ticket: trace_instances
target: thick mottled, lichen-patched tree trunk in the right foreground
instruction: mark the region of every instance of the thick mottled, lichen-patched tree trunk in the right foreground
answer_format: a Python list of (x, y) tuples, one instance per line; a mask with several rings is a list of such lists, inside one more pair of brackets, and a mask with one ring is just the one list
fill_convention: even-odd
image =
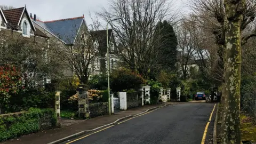
[(246, 0), (225, 0), (226, 55), (222, 87), (221, 143), (241, 143), (240, 85), (241, 85), (241, 22)]

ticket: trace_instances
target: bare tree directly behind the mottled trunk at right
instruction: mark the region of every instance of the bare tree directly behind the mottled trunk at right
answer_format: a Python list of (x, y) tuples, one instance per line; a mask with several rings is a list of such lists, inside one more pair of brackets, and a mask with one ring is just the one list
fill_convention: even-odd
[[(225, 57), (225, 7), (223, 0), (190, 0), (189, 6), (194, 14), (200, 18), (196, 25), (202, 29), (209, 30), (214, 35), (215, 42), (218, 44), (219, 61), (215, 68), (218, 76), (217, 80), (223, 82), (223, 69)], [(254, 25), (254, 18), (256, 16), (256, 3), (253, 0), (246, 0), (246, 9), (242, 12), (243, 20), (241, 23), (241, 31), (246, 31), (247, 26)], [(248, 34), (242, 33), (242, 45), (248, 39), (256, 36), (255, 27)]]

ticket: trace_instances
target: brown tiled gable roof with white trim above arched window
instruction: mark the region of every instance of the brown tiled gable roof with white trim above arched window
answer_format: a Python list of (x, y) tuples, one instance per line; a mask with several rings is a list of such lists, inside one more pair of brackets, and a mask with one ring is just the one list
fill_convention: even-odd
[[(21, 18), (23, 14), (26, 12), (28, 16), (28, 12), (26, 7), (20, 7), (18, 9), (11, 9), (11, 10), (5, 10), (3, 11), (5, 18), (9, 25), (11, 24), (14, 27), (18, 27), (20, 25)], [(31, 27), (35, 31), (35, 27), (33, 25), (33, 22), (28, 18), (28, 21), (30, 22)]]

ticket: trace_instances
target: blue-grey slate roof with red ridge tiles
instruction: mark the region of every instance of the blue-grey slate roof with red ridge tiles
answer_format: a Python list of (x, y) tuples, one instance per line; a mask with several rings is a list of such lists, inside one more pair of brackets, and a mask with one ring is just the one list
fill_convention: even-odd
[(36, 20), (35, 22), (65, 44), (73, 44), (79, 28), (85, 21), (84, 17), (76, 17), (44, 22)]

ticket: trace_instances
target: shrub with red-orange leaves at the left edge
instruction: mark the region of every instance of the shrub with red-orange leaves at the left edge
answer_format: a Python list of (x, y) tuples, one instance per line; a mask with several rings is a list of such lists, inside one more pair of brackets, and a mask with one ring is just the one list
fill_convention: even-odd
[(25, 89), (21, 82), (20, 71), (14, 66), (0, 66), (0, 100), (2, 104), (9, 102), (11, 94), (16, 94)]

